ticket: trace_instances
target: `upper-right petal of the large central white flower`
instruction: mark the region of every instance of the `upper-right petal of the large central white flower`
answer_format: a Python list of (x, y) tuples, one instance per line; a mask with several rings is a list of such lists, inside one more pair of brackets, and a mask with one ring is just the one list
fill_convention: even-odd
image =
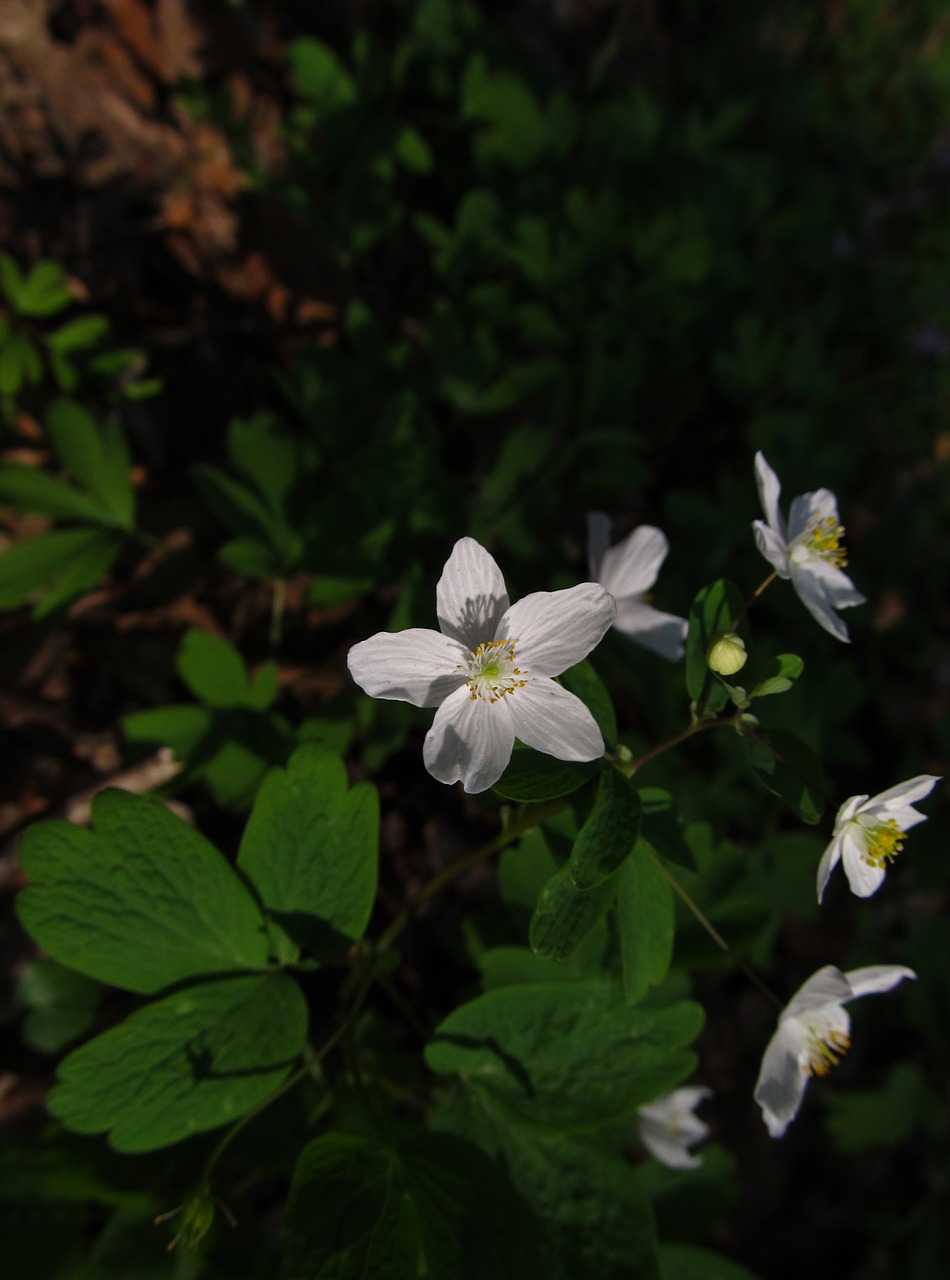
[(531, 678), (560, 676), (603, 640), (616, 612), (613, 596), (597, 582), (535, 591), (511, 605), (494, 637), (516, 643), (519, 667)]

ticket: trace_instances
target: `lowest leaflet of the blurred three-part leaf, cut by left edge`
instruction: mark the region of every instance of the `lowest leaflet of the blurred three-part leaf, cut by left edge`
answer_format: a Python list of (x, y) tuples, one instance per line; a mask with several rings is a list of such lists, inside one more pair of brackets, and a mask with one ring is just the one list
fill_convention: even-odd
[(37, 614), (50, 612), (44, 595), (58, 588), (61, 603), (99, 582), (118, 553), (120, 535), (102, 529), (55, 529), (14, 543), (0, 553), (0, 609), (38, 599)]

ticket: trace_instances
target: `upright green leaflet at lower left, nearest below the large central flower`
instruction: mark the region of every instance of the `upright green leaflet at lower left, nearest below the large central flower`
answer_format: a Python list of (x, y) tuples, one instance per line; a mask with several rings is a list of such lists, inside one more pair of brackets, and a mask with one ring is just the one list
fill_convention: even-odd
[(280, 960), (301, 947), (320, 959), (362, 936), (376, 895), (379, 799), (347, 787), (338, 755), (298, 748), (257, 792), (238, 854), (271, 923)]

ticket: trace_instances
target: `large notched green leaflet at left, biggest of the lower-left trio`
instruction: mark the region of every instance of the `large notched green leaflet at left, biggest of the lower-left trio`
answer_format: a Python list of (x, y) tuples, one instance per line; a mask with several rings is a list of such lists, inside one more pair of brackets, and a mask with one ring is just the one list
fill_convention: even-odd
[(266, 965), (260, 909), (204, 836), (125, 791), (96, 796), (92, 819), (35, 823), (20, 846), (17, 911), (55, 960), (142, 993)]

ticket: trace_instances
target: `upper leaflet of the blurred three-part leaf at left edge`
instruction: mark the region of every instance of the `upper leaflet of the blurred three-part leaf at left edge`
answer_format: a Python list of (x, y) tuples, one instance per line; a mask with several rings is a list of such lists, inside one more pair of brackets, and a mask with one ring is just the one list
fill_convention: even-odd
[(58, 399), (46, 413), (46, 429), (69, 475), (99, 499), (117, 525), (132, 529), (132, 460), (119, 424), (100, 424), (76, 401)]

